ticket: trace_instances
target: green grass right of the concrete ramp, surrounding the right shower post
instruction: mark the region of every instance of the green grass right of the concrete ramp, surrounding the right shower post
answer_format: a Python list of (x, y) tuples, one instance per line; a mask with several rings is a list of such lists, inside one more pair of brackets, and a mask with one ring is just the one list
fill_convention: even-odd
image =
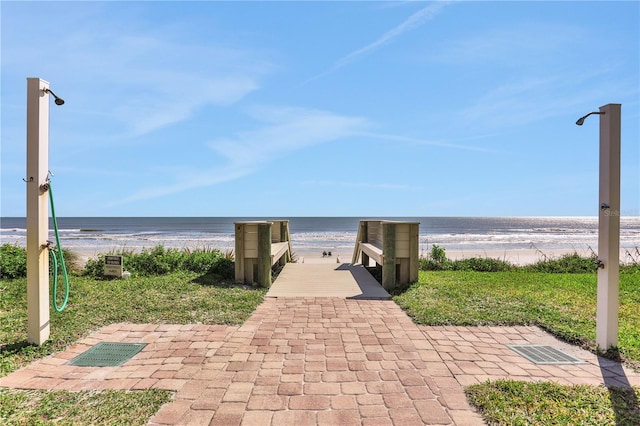
[[(419, 282), (394, 300), (418, 324), (537, 325), (596, 351), (596, 294), (594, 274), (421, 271)], [(639, 305), (637, 276), (621, 274), (618, 350), (636, 368)]]

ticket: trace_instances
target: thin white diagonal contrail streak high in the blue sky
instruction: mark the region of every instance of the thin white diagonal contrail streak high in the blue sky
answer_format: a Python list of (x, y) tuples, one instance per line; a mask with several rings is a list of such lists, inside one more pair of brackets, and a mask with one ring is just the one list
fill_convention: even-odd
[(302, 84), (309, 83), (310, 81), (317, 80), (321, 77), (324, 77), (325, 75), (331, 74), (339, 70), (340, 68), (344, 67), (345, 65), (353, 62), (360, 56), (363, 56), (367, 53), (371, 53), (376, 49), (379, 49), (380, 47), (389, 43), (396, 37), (399, 37), (400, 35), (404, 34), (405, 32), (411, 31), (414, 28), (421, 26), (425, 22), (431, 20), (442, 8), (444, 8), (449, 3), (451, 3), (451, 1), (437, 1), (423, 9), (420, 9), (419, 11), (411, 15), (403, 23), (393, 28), (392, 30), (389, 30), (386, 33), (384, 33), (381, 37), (379, 37), (373, 43), (370, 43), (364, 47), (361, 47), (360, 49), (354, 50), (348, 55), (340, 58), (330, 69), (314, 77), (311, 77), (310, 79), (304, 81), (304, 83)]

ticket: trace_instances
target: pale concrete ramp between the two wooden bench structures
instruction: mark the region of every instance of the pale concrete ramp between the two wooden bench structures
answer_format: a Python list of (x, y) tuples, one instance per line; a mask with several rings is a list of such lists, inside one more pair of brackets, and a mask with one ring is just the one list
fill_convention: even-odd
[(266, 297), (391, 299), (364, 266), (351, 263), (287, 263)]

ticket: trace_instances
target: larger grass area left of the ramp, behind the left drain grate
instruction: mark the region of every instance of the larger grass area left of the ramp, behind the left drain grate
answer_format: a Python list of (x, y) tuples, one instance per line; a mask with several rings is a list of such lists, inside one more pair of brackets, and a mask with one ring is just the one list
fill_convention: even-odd
[(70, 281), (67, 308), (51, 310), (51, 337), (41, 346), (26, 341), (26, 279), (0, 281), (0, 377), (112, 323), (239, 325), (266, 293), (195, 272), (125, 280), (72, 276)]

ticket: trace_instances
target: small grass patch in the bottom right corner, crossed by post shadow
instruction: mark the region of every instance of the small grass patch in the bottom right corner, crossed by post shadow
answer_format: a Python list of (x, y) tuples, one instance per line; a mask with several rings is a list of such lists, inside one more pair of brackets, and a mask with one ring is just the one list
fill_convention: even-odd
[(490, 425), (640, 424), (640, 388), (499, 380), (465, 393)]

